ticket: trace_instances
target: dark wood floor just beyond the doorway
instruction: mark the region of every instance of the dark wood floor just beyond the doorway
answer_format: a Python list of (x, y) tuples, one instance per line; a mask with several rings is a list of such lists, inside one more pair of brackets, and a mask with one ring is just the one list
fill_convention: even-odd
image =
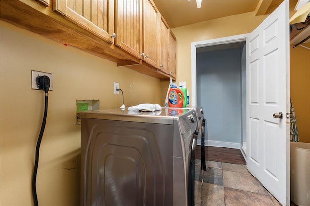
[[(196, 159), (201, 159), (201, 146), (197, 145)], [(240, 149), (205, 146), (205, 159), (231, 164), (246, 164)]]

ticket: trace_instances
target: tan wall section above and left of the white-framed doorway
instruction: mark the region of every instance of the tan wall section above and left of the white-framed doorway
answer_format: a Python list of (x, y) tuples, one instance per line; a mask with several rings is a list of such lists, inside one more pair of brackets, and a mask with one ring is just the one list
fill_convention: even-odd
[(186, 87), (192, 94), (192, 42), (249, 33), (266, 17), (267, 15), (255, 16), (254, 12), (249, 12), (172, 29), (177, 38), (177, 81), (186, 81)]

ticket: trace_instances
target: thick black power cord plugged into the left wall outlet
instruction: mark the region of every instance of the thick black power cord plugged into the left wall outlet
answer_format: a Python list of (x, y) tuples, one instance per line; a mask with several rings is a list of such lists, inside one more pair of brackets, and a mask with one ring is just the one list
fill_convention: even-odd
[(38, 204), (38, 196), (37, 196), (37, 190), (36, 190), (36, 179), (37, 179), (37, 172), (38, 172), (38, 164), (39, 164), (39, 151), (40, 151), (40, 145), (44, 133), (45, 124), (47, 121), (47, 108), (48, 108), (48, 88), (50, 84), (50, 79), (48, 76), (38, 76), (36, 78), (37, 85), (39, 89), (44, 90), (45, 92), (45, 104), (44, 104), (44, 115), (41, 125), (41, 130), (39, 134), (39, 138), (37, 141), (37, 147), (35, 149), (35, 162), (34, 162), (34, 169), (33, 169), (33, 176), (32, 176), (32, 196), (35, 206), (39, 206)]

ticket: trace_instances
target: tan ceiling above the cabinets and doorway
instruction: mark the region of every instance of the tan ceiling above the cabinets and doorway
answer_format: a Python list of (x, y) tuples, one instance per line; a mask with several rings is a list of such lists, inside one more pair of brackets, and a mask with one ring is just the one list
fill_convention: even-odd
[[(283, 0), (203, 0), (200, 9), (197, 8), (196, 0), (153, 1), (169, 27), (175, 28), (225, 16), (253, 12), (260, 8), (260, 5), (266, 5), (266, 2), (268, 2), (267, 8), (263, 14), (269, 14)], [(297, 0), (291, 1), (297, 2)]]

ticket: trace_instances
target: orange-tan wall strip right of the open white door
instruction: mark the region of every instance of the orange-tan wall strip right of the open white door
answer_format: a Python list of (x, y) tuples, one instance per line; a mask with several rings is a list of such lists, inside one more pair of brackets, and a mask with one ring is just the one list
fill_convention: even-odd
[(290, 93), (299, 141), (310, 143), (310, 50), (300, 46), (290, 48)]

